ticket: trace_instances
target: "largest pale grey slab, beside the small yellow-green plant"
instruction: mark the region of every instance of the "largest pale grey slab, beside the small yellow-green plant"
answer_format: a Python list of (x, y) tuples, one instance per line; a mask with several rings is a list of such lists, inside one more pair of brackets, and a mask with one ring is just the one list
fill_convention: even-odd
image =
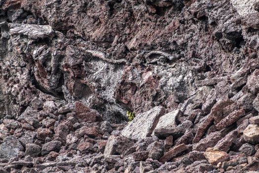
[(150, 136), (164, 112), (165, 109), (162, 106), (156, 106), (145, 113), (138, 114), (121, 131), (121, 134), (131, 139), (144, 139)]

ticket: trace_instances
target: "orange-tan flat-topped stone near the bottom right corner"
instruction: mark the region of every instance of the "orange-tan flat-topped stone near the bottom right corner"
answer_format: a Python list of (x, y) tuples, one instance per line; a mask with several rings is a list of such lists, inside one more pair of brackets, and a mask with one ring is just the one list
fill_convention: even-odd
[(217, 165), (220, 162), (226, 162), (230, 160), (229, 155), (223, 151), (208, 151), (204, 153), (208, 162), (212, 165)]

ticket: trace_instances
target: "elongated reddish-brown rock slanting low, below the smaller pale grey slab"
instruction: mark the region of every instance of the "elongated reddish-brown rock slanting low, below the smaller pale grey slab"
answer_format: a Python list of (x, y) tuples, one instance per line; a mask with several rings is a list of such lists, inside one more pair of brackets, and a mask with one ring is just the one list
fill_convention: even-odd
[(187, 146), (185, 144), (178, 145), (171, 149), (170, 151), (166, 152), (160, 159), (159, 162), (166, 162), (170, 161), (172, 158), (176, 157), (177, 155), (183, 153), (187, 150)]

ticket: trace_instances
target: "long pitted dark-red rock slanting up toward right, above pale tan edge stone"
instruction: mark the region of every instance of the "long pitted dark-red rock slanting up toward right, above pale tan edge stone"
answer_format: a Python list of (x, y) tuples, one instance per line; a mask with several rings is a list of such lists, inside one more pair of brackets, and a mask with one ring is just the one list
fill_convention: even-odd
[(216, 124), (216, 127), (218, 130), (222, 130), (223, 128), (226, 128), (227, 126), (235, 123), (243, 115), (245, 115), (244, 109), (236, 110), (222, 119), (218, 124)]

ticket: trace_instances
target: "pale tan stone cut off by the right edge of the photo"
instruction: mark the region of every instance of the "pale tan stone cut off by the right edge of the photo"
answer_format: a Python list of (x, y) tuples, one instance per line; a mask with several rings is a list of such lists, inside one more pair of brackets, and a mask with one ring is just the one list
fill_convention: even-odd
[(243, 132), (244, 139), (250, 143), (259, 143), (259, 125), (248, 125)]

